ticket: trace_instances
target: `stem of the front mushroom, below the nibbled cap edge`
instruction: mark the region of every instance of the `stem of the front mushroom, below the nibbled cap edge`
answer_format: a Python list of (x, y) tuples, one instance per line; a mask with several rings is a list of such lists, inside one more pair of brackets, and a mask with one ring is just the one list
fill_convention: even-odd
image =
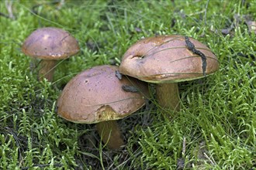
[(112, 149), (118, 149), (123, 144), (123, 136), (116, 121), (101, 121), (96, 124), (102, 141)]

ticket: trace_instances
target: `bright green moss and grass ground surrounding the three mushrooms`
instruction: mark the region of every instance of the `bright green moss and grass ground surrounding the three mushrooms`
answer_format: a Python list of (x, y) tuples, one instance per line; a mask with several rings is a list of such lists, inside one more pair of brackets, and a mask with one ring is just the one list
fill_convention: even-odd
[[(1, 1), (1, 169), (254, 169), (256, 166), (256, 1)], [(54, 26), (81, 53), (57, 64), (52, 83), (21, 53), (33, 30)], [(92, 66), (119, 65), (138, 39), (178, 34), (209, 46), (212, 76), (180, 83), (181, 110), (162, 118), (152, 97), (118, 121), (126, 146), (110, 151), (94, 124), (57, 116), (68, 80)]]

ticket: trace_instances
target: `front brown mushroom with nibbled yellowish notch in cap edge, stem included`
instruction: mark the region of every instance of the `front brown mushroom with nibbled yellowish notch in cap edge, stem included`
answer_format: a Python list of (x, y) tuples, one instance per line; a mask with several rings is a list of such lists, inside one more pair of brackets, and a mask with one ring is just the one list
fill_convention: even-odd
[(74, 123), (96, 124), (102, 141), (112, 149), (124, 144), (115, 120), (143, 107), (148, 95), (147, 83), (117, 76), (116, 71), (117, 66), (103, 65), (79, 73), (67, 83), (57, 101), (59, 116)]

